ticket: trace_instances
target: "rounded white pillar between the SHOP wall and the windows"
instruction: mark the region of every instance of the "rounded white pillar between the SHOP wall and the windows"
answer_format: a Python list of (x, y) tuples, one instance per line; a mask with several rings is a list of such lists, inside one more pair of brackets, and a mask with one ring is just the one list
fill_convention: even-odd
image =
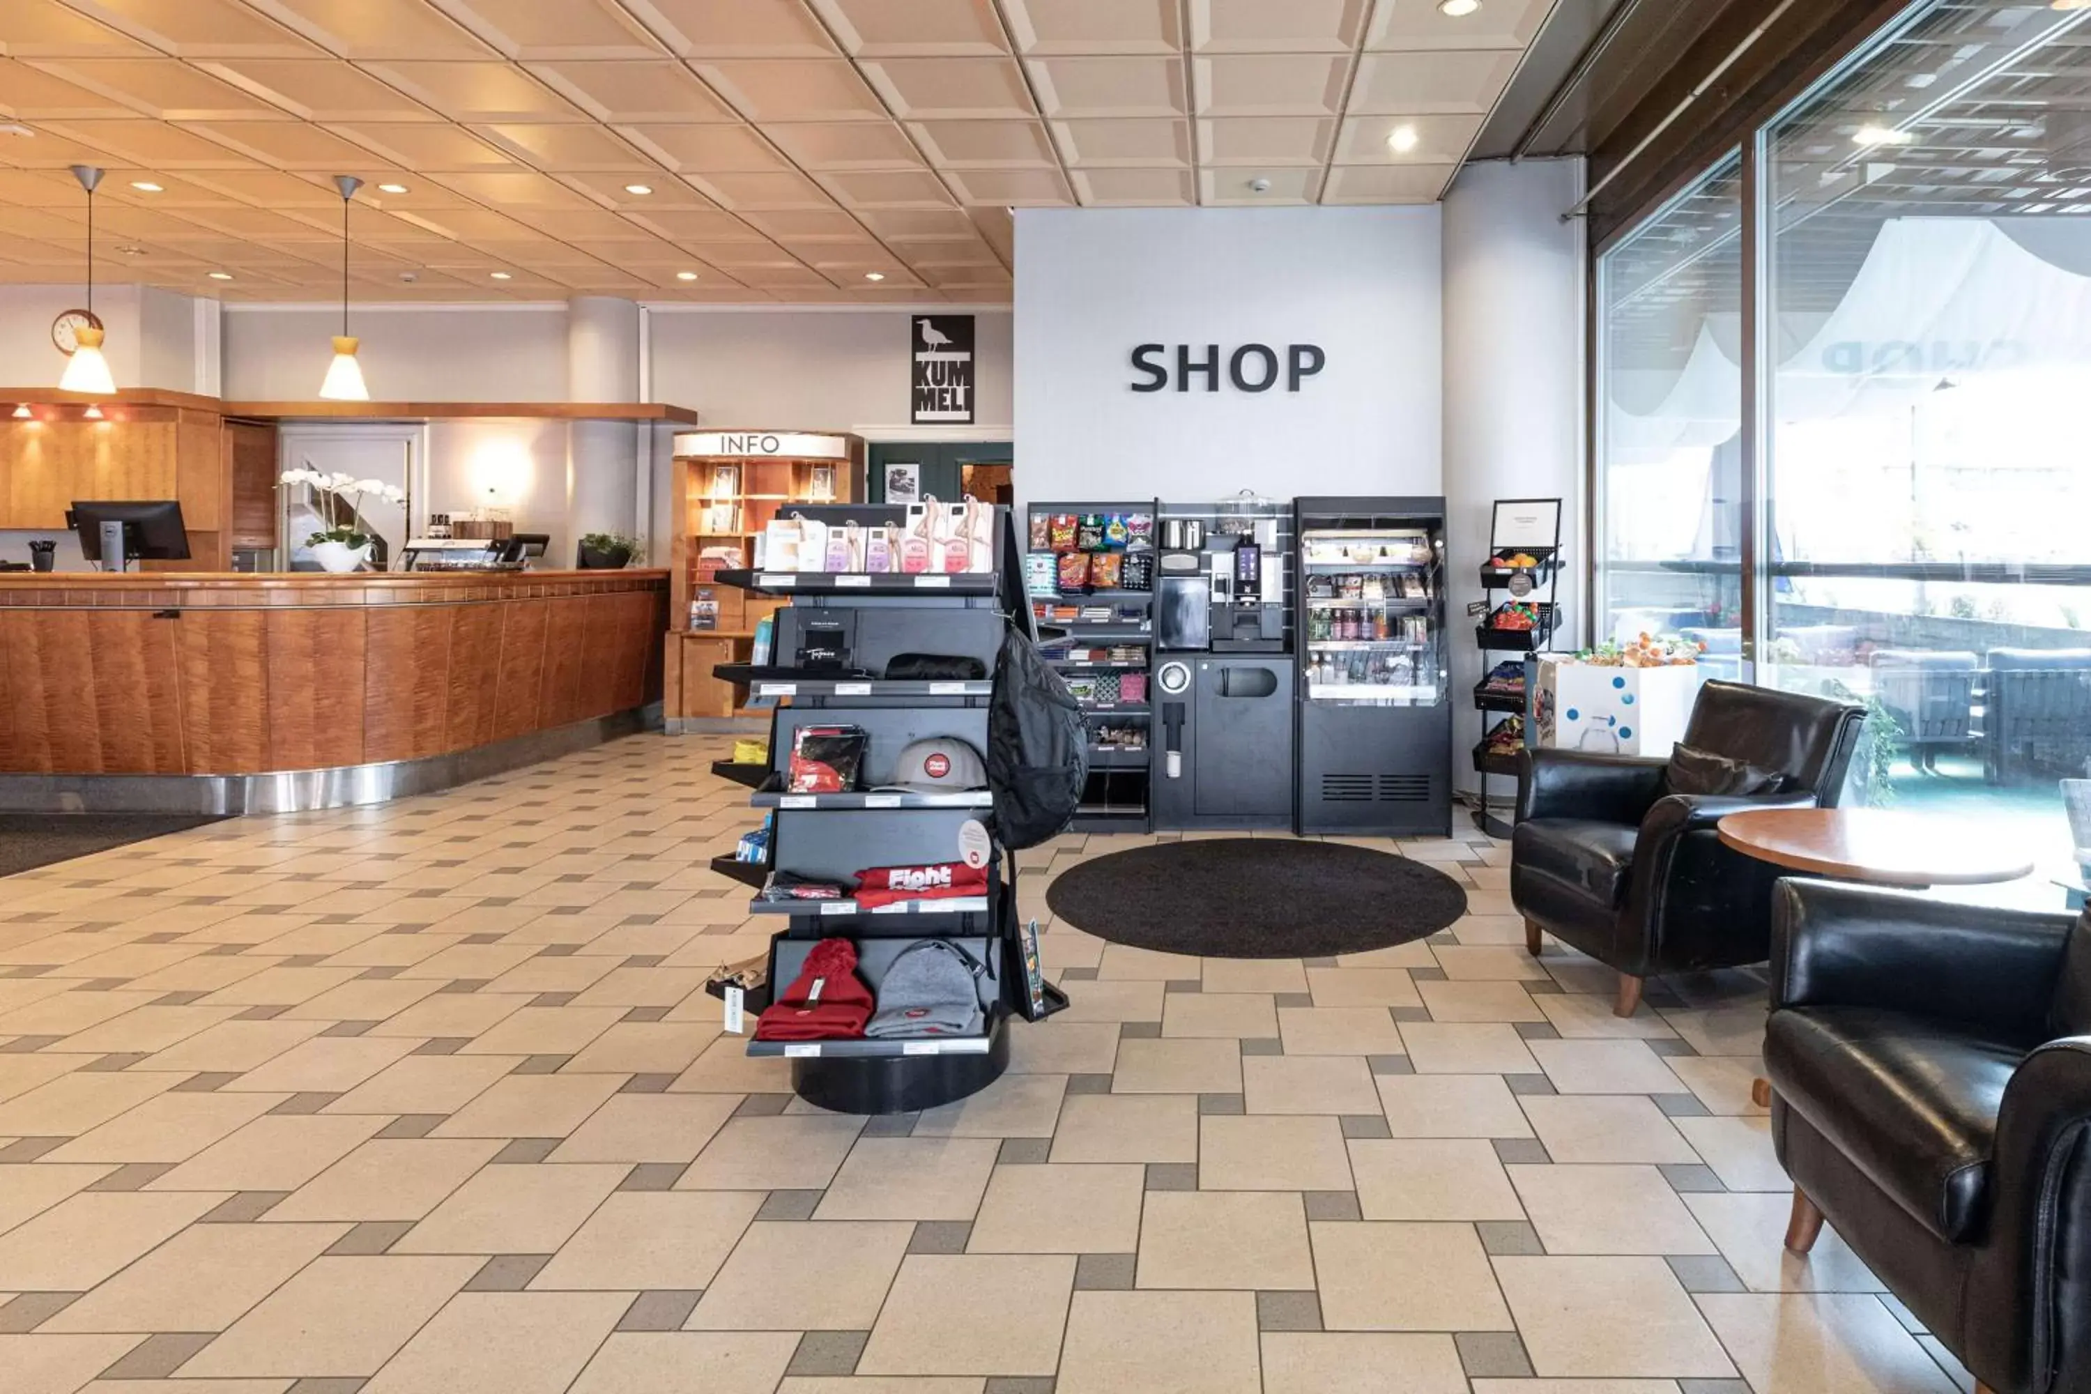
[[(1581, 646), (1587, 560), (1583, 224), (1562, 222), (1581, 196), (1581, 161), (1470, 165), (1445, 196), (1447, 602), (1464, 625), (1466, 602), (1483, 598), (1476, 568), (1489, 556), (1495, 499), (1560, 497), (1568, 548), (1560, 648)], [(1480, 784), (1464, 754), (1480, 740), (1485, 713), (1460, 698), (1506, 656), (1485, 656), (1470, 637), (1453, 644), (1453, 771), (1462, 788)], [(1491, 794), (1508, 792), (1508, 780), (1491, 780)]]

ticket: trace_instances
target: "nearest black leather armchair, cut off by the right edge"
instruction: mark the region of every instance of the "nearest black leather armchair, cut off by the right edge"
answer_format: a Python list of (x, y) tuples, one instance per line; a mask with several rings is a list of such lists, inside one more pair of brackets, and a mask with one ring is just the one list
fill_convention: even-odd
[(2091, 1390), (2091, 913), (1775, 901), (1786, 1248), (1828, 1216), (1986, 1390)]

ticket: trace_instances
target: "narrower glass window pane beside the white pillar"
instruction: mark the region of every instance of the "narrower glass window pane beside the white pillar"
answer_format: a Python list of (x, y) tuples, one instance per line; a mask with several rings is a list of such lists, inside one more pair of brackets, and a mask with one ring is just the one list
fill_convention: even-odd
[(1598, 640), (1742, 654), (1742, 157), (1600, 265)]

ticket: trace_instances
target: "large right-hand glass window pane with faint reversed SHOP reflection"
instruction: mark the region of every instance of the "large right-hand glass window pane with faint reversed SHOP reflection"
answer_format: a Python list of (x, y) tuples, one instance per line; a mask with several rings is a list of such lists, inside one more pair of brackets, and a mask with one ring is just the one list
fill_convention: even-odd
[(1756, 679), (1863, 700), (1853, 800), (2070, 869), (2091, 759), (2091, 10), (1926, 4), (1765, 134)]

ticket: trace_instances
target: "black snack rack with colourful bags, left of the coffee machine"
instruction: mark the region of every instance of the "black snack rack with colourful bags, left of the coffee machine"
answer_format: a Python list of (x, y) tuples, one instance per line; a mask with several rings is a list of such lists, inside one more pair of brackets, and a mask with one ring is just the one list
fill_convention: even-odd
[[(1031, 504), (1025, 520), (1025, 591), (1041, 631), (1041, 654), (1075, 690), (1089, 725), (1089, 784), (1075, 832), (1150, 828), (1158, 516), (1154, 499), (1121, 499)], [(1073, 548), (1060, 545), (1064, 539), (1054, 533), (1056, 520), (1066, 518), (1075, 520)], [(1112, 518), (1123, 520), (1123, 539), (1108, 535)], [(1135, 518), (1144, 518), (1144, 527)], [(1079, 545), (1083, 529), (1100, 529), (1096, 545)], [(1106, 575), (1106, 585), (1087, 577), (1081, 587), (1064, 585), (1060, 558), (1071, 554), (1092, 558), (1092, 568), (1098, 556), (1115, 558), (1108, 566), (1117, 575)]]

